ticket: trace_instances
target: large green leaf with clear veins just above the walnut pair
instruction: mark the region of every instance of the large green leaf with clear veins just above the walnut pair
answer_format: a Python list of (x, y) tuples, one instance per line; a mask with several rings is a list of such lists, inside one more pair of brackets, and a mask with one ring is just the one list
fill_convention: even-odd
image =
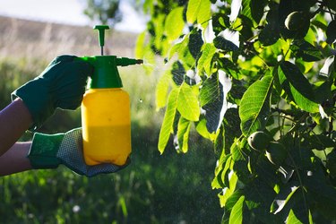
[(270, 96), (273, 78), (264, 76), (254, 82), (244, 93), (240, 103), (240, 128), (245, 136), (254, 133), (265, 125), (265, 118), (270, 112)]

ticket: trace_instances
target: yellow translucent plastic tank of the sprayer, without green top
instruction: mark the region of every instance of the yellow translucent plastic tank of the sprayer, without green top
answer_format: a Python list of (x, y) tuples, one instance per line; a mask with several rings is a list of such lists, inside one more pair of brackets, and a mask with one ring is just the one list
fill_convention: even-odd
[(124, 165), (131, 149), (128, 93), (121, 88), (90, 89), (82, 100), (82, 138), (87, 165)]

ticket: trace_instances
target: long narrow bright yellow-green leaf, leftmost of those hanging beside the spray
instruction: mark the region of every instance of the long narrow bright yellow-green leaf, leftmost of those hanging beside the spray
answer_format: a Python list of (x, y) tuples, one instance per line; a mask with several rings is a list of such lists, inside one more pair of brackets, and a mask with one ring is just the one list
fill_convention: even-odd
[(159, 152), (162, 154), (165, 151), (169, 136), (173, 131), (174, 118), (177, 113), (177, 98), (179, 89), (174, 89), (170, 91), (168, 97), (168, 104), (165, 116), (163, 117), (161, 129), (159, 131)]

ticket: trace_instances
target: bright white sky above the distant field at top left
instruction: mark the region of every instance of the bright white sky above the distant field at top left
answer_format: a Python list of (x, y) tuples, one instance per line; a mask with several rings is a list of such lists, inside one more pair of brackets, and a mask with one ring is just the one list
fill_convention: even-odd
[[(0, 15), (42, 22), (57, 22), (73, 25), (92, 25), (82, 13), (86, 0), (0, 0)], [(141, 32), (145, 19), (128, 1), (120, 1), (123, 21), (116, 24), (117, 30)]]

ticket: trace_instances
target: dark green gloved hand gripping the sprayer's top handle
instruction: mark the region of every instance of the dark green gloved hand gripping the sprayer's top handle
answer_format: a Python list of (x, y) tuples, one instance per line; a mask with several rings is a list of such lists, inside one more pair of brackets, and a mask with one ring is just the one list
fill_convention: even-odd
[(93, 67), (77, 56), (57, 56), (34, 80), (12, 93), (30, 110), (33, 125), (41, 126), (56, 108), (75, 109), (82, 103), (88, 76)]

